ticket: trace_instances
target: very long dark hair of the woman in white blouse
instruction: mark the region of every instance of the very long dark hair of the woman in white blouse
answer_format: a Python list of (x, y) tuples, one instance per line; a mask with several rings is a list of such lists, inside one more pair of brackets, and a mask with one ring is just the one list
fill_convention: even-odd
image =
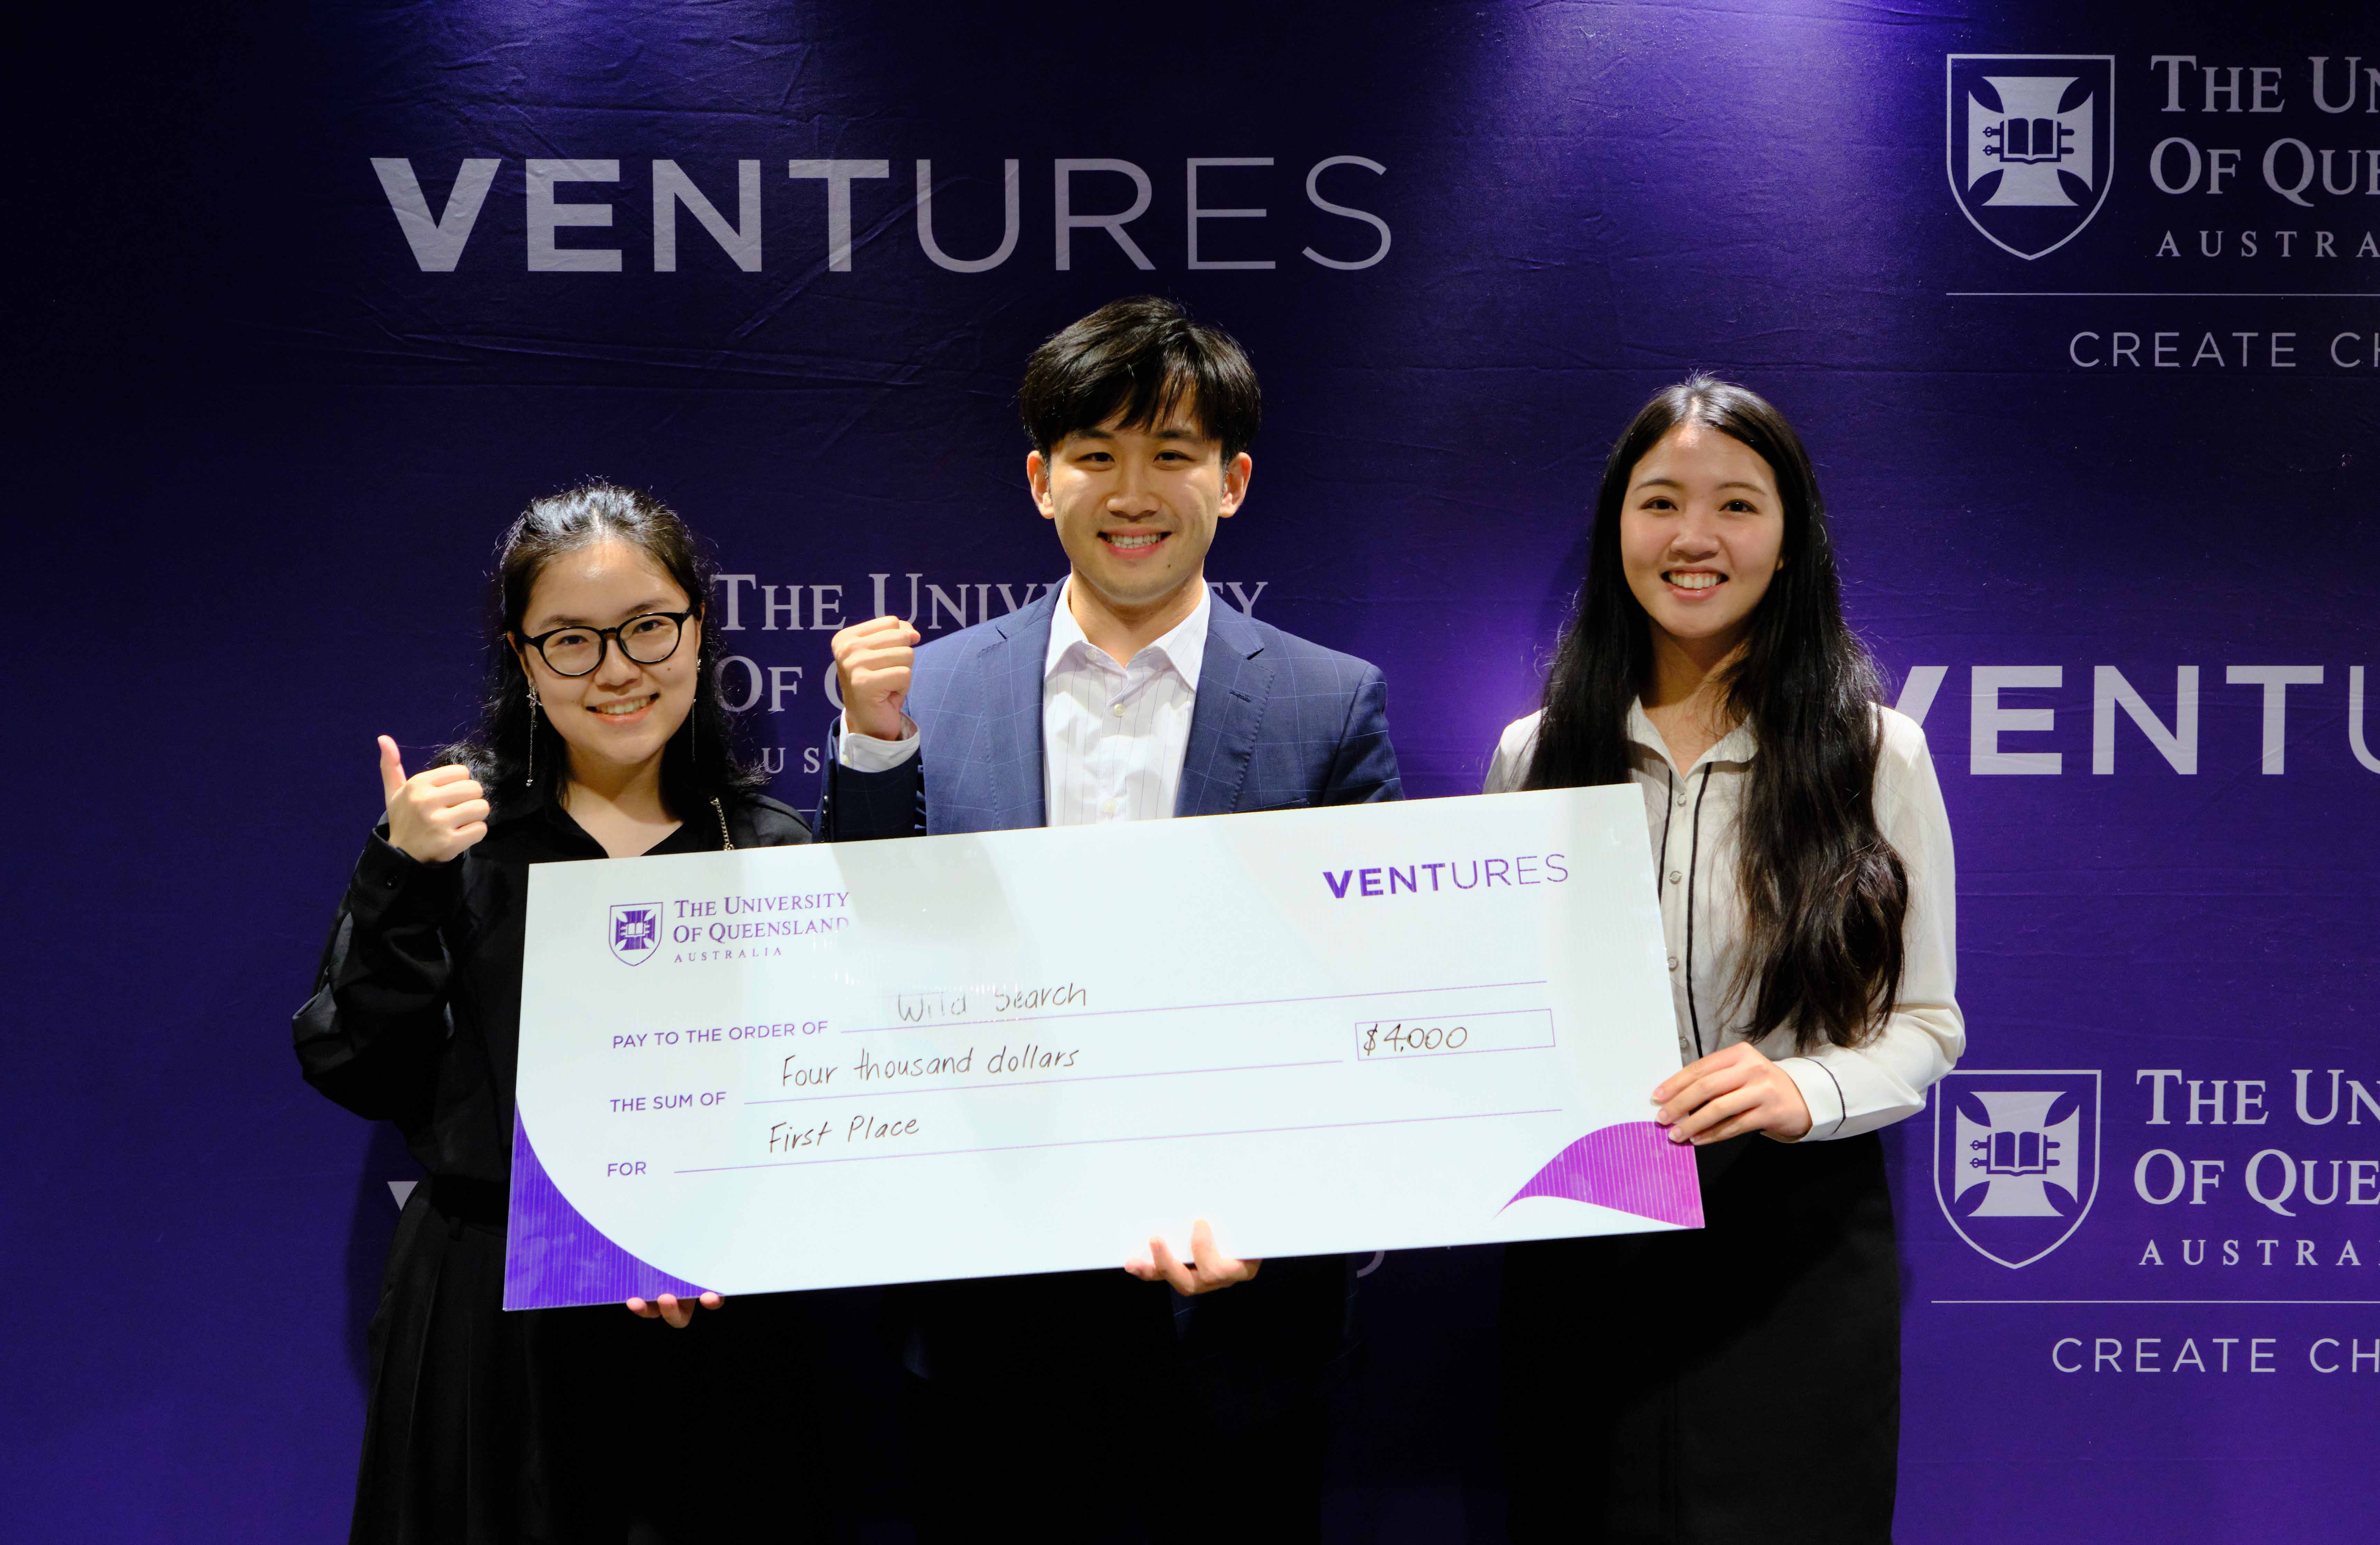
[(1690, 376), (1656, 393), (1611, 448), (1587, 583), (1545, 678), (1528, 788), (1628, 781), (1628, 705), (1652, 686), (1652, 621), (1621, 571), (1621, 505), (1635, 464), (1680, 424), (1749, 445), (1785, 505), (1785, 567), (1721, 683), (1728, 717), (1759, 740), (1737, 831), (1749, 928), (1733, 993), (1752, 1009), (1745, 1038), (1790, 1028), (1802, 1050), (1859, 1045), (1899, 997), (1909, 914), (1909, 874), (1875, 826), (1883, 681), (1842, 621), (1802, 438), (1742, 386)]

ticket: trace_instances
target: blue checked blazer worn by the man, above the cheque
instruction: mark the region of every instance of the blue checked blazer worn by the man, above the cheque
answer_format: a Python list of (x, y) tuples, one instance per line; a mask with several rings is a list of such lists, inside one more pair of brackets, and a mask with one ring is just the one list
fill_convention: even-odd
[[(923, 645), (907, 702), (923, 740), (919, 755), (883, 774), (854, 774), (828, 757), (819, 838), (1047, 824), (1042, 659), (1054, 609), (1057, 586), (1007, 617)], [(1173, 814), (1399, 797), (1380, 671), (1216, 600)]]

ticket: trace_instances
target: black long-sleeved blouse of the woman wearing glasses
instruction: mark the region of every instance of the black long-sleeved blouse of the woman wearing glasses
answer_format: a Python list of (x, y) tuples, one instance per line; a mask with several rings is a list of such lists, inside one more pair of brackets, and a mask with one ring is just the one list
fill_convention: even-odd
[[(735, 847), (809, 840), (790, 807), (750, 795), (724, 814), (702, 805), (650, 852), (719, 852), (721, 824)], [(447, 864), (397, 852), (383, 821), (293, 1019), (307, 1083), (393, 1121), (431, 1174), (507, 1186), (528, 867), (600, 857), (543, 795), (497, 809), (488, 836)]]

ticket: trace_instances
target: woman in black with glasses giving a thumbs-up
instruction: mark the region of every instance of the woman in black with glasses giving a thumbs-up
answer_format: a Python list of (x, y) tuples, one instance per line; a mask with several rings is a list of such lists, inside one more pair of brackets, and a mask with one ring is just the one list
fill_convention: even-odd
[[(500, 1305), (528, 867), (809, 828), (728, 743), (712, 564), (666, 505), (607, 483), (543, 498), (505, 533), (490, 590), (478, 728), (412, 774), (381, 738), (386, 819), (295, 1017), (307, 1083), (393, 1121), (428, 1171), (371, 1319), (350, 1538), (785, 1535), (783, 1514), (738, 1502), (764, 1507), (759, 1476), (804, 1452), (785, 1431), (809, 1405), (790, 1393), (814, 1386), (785, 1364), (797, 1300), (745, 1300), (683, 1338), (621, 1307)], [(697, 1319), (674, 1297), (628, 1309)], [(702, 1438), (681, 1438), (685, 1421)]]

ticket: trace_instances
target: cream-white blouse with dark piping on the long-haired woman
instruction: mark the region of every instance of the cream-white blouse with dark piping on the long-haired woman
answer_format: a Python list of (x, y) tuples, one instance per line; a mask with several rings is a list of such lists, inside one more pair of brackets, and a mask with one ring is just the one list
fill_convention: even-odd
[[(1885, 731), (1875, 762), (1875, 821), (1909, 874), (1902, 924), (1902, 990), (1883, 1031), (1861, 1047), (1821, 1045), (1797, 1052), (1792, 1031), (1754, 1043), (1802, 1090), (1809, 1138), (1852, 1138), (1925, 1109), (1925, 1090), (1966, 1050), (1959, 1014), (1959, 886), (1949, 847), (1949, 812), (1925, 731), (1878, 709)], [(1488, 793), (1518, 788), (1537, 745), (1537, 719), (1516, 721), (1497, 743)], [(1661, 731), (1642, 705), (1628, 707), (1630, 776), (1645, 790), (1668, 986), (1678, 1009), (1678, 1059), (1692, 1062), (1745, 1038), (1749, 993), (1737, 990), (1745, 950), (1745, 902), (1737, 890), (1737, 833), (1745, 786), (1759, 745), (1752, 726), (1733, 728), (1695, 767), (1678, 771)], [(1649, 1090), (1647, 1090), (1649, 1093)]]

